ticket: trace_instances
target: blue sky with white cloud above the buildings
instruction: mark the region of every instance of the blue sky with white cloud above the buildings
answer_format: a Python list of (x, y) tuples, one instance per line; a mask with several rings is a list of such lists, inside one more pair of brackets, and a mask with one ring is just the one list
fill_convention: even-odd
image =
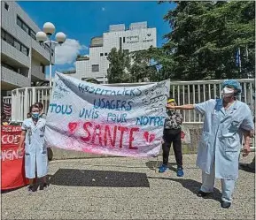
[(94, 36), (108, 31), (109, 25), (147, 21), (149, 27), (157, 27), (158, 47), (165, 40), (163, 35), (170, 27), (163, 20), (164, 15), (174, 4), (157, 2), (18, 2), (24, 11), (43, 28), (47, 21), (52, 22), (56, 32), (64, 32), (66, 44), (57, 48), (54, 70), (74, 69), (77, 53), (89, 54), (89, 42)]

